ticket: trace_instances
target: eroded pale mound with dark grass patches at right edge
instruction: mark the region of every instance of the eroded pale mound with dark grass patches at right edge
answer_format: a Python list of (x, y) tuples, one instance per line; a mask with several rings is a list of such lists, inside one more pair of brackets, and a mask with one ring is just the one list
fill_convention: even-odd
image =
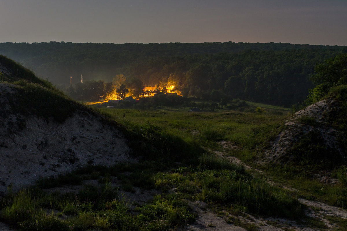
[(324, 163), (332, 169), (346, 162), (346, 131), (333, 124), (341, 102), (326, 98), (296, 112), (284, 121), (285, 128), (266, 152), (269, 161), (278, 163)]

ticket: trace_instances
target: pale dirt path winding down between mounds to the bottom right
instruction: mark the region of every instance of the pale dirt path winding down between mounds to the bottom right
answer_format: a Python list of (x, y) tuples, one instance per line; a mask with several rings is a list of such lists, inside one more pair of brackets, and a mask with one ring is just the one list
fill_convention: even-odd
[[(246, 165), (241, 160), (236, 157), (225, 156), (224, 152), (221, 151), (211, 151), (227, 160), (243, 165), (247, 170), (253, 170), (261, 175), (265, 175), (259, 169), (253, 169), (252, 167)], [(276, 185), (271, 180), (268, 180), (270, 184)], [(288, 190), (295, 191), (294, 188), (287, 188)], [(185, 231), (188, 230), (259, 230), (259, 231), (318, 231), (318, 230), (334, 230), (336, 229), (336, 224), (329, 221), (327, 216), (340, 217), (341, 219), (347, 219), (347, 211), (336, 207), (324, 204), (322, 202), (310, 201), (303, 198), (299, 198), (302, 204), (308, 206), (308, 210), (305, 211), (307, 216), (314, 217), (320, 221), (324, 222), (326, 228), (311, 228), (303, 224), (303, 222), (291, 221), (288, 219), (271, 218), (271, 217), (255, 217), (250, 214), (243, 214), (242, 216), (235, 216), (221, 211), (223, 215), (212, 212), (209, 206), (203, 202), (195, 201), (191, 203), (195, 213), (197, 213), (197, 219), (194, 224), (187, 226)], [(233, 224), (230, 221), (238, 220), (239, 226)], [(228, 222), (229, 221), (229, 222)], [(230, 223), (230, 224), (229, 224)], [(241, 224), (240, 224), (241, 223)], [(242, 227), (244, 228), (242, 228)]]

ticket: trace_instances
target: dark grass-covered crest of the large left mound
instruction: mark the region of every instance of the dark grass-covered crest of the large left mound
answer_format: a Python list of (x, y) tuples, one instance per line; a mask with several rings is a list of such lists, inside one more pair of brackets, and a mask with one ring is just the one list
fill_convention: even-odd
[(19, 89), (15, 97), (10, 97), (11, 113), (20, 113), (26, 117), (43, 116), (47, 120), (53, 117), (54, 121), (64, 122), (82, 106), (48, 80), (36, 77), (31, 70), (3, 55), (0, 55), (0, 71), (0, 82), (10, 83), (11, 87)]

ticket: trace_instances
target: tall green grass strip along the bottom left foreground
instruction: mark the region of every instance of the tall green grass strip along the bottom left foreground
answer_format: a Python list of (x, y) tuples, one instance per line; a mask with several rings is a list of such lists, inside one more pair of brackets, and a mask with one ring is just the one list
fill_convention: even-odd
[[(105, 199), (100, 189), (91, 186), (75, 195), (74, 201), (65, 196), (56, 197), (60, 203), (49, 203), (52, 198), (44, 194), (34, 196), (30, 190), (20, 191), (3, 206), (1, 221), (20, 230), (168, 230), (195, 218), (187, 202), (177, 196), (158, 195), (152, 203), (135, 208), (136, 214), (130, 213), (130, 203), (125, 198)], [(42, 203), (44, 200), (48, 201)], [(48, 214), (48, 208), (62, 212)], [(60, 219), (62, 213), (69, 217)]]

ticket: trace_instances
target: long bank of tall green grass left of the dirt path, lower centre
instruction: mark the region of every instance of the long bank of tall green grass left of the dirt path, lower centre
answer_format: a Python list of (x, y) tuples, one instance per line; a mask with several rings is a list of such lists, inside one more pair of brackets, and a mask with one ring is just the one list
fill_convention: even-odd
[(243, 166), (214, 155), (203, 155), (195, 167), (154, 176), (158, 189), (177, 186), (180, 197), (263, 216), (299, 219), (301, 203), (282, 188), (254, 178)]

